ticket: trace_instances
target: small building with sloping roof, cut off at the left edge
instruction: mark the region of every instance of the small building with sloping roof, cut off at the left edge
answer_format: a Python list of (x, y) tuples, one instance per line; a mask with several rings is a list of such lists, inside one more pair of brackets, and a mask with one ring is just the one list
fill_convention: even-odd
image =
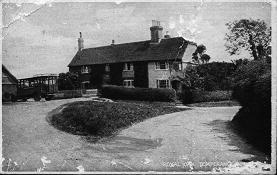
[(17, 79), (2, 64), (2, 101), (11, 101), (17, 95)]

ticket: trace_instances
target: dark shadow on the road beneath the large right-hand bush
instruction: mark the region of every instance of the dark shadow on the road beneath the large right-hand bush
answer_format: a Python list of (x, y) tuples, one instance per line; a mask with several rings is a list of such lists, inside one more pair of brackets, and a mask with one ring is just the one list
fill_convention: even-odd
[(220, 138), (228, 141), (228, 145), (237, 147), (237, 149), (232, 149), (230, 151), (254, 155), (249, 159), (243, 159), (241, 161), (270, 162), (270, 156), (266, 155), (261, 149), (253, 146), (247, 137), (245, 137), (238, 127), (236, 127), (231, 121), (214, 120), (207, 123), (207, 125), (211, 126), (213, 131), (222, 133), (224, 136), (221, 136)]

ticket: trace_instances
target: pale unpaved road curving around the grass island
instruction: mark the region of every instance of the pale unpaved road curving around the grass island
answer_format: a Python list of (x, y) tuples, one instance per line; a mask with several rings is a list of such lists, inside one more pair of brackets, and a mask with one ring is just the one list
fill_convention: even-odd
[(86, 99), (4, 104), (3, 171), (210, 171), (265, 158), (228, 129), (239, 107), (167, 114), (93, 143), (46, 121), (50, 111), (76, 100)]

